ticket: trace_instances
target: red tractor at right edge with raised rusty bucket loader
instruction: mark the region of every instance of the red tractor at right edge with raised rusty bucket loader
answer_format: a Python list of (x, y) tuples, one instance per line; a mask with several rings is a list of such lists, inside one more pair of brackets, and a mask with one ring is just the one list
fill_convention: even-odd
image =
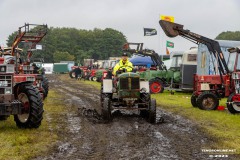
[(231, 113), (240, 112), (240, 63), (239, 48), (229, 49), (228, 61), (225, 61), (223, 52), (217, 41), (183, 29), (183, 25), (164, 20), (159, 21), (168, 37), (178, 35), (196, 42), (205, 44), (213, 59), (215, 75), (194, 75), (194, 92), (191, 103), (194, 107), (203, 110), (215, 110), (222, 97), (228, 97), (227, 107)]

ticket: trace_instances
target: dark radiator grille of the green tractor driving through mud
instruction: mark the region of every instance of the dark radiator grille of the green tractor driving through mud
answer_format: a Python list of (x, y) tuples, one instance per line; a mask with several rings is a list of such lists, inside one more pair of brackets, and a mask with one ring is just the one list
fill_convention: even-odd
[[(129, 88), (129, 84), (131, 84), (131, 88)], [(139, 89), (140, 83), (139, 78), (121, 78), (120, 79), (120, 89)]]

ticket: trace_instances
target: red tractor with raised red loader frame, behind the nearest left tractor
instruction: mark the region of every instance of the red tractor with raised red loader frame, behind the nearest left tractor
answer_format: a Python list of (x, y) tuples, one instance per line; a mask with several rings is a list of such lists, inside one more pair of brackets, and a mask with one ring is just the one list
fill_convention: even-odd
[[(31, 66), (30, 63), (33, 51), (36, 50), (36, 45), (46, 34), (47, 25), (25, 24), (24, 26), (19, 27), (18, 33), (10, 48), (11, 56), (8, 56), (8, 63), (15, 64), (15, 83), (32, 81), (33, 84), (37, 86), (43, 99), (46, 98), (48, 94), (48, 79), (45, 77), (43, 70), (40, 71), (36, 69), (36, 66)], [(25, 43), (29, 46), (27, 49), (27, 58), (25, 61), (23, 61), (22, 57), (20, 57), (22, 50), (17, 48), (20, 43)]]

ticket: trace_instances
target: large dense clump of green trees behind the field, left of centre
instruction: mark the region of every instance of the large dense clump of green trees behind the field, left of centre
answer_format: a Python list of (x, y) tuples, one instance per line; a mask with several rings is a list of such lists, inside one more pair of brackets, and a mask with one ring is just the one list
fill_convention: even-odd
[[(8, 46), (12, 45), (16, 34), (14, 32), (8, 37)], [(75, 62), (83, 62), (84, 58), (108, 59), (111, 56), (120, 56), (126, 42), (123, 33), (112, 28), (82, 30), (50, 27), (40, 42), (43, 50), (33, 52), (33, 57), (44, 58), (45, 62), (52, 63), (56, 61), (56, 52), (68, 52), (74, 56)]]

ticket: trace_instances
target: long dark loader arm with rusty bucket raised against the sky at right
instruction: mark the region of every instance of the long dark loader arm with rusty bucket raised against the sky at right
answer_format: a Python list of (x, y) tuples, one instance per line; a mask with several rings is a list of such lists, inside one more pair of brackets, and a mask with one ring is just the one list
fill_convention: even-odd
[(199, 34), (193, 33), (190, 30), (183, 29), (184, 26), (181, 24), (172, 23), (165, 20), (160, 20), (159, 24), (168, 37), (176, 37), (179, 35), (196, 44), (199, 44), (199, 43), (205, 44), (209, 52), (213, 54), (214, 57), (217, 59), (220, 74), (226, 74), (225, 71), (227, 72), (227, 74), (230, 73), (227, 63), (224, 59), (222, 50), (220, 48), (220, 45), (217, 41), (201, 36)]

